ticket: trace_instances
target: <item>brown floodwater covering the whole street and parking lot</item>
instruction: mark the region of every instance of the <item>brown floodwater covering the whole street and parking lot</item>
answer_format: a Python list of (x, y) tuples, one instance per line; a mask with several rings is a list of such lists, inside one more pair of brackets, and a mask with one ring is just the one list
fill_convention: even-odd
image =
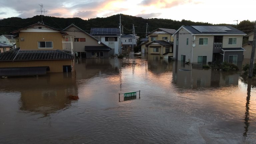
[[(240, 72), (157, 55), (75, 63), (74, 73), (0, 79), (1, 144), (256, 141), (256, 80)], [(118, 101), (139, 90), (141, 99)]]

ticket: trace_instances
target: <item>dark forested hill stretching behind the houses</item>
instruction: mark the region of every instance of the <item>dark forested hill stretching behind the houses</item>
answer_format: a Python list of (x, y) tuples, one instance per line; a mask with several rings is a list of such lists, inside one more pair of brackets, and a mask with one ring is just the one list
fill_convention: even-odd
[[(10, 32), (17, 30), (22, 27), (26, 27), (32, 24), (37, 23), (41, 20), (41, 16), (37, 15), (32, 18), (18, 18), (18, 17), (11, 17), (0, 20), (0, 34), (10, 34)], [(59, 17), (50, 17), (50, 16), (43, 16), (43, 22), (45, 25), (63, 30), (70, 24), (75, 24), (76, 26), (80, 27), (86, 32), (90, 32), (90, 29), (92, 27), (101, 27), (101, 28), (108, 28), (108, 27), (118, 27), (119, 26), (119, 14), (113, 15), (106, 18), (92, 18), (88, 20), (83, 20), (81, 18), (59, 18)], [(242, 21), (243, 22), (243, 21)], [(240, 24), (242, 23), (240, 22)], [(246, 33), (250, 32), (250, 24), (248, 24), (250, 21), (245, 21), (245, 25), (248, 26), (249, 31), (245, 31)], [(121, 14), (121, 24), (123, 25), (123, 30), (125, 34), (132, 33), (132, 24), (134, 24), (135, 32), (138, 34), (138, 36), (145, 36), (146, 33), (146, 23), (148, 23), (148, 30), (153, 31), (157, 28), (168, 28), (168, 29), (178, 29), (182, 25), (212, 25), (210, 23), (203, 23), (203, 22), (192, 22), (189, 20), (182, 20), (182, 21), (176, 21), (171, 19), (157, 19), (157, 18), (151, 18), (151, 19), (144, 19), (142, 17), (135, 17), (135, 16), (129, 16), (129, 15), (123, 15)], [(238, 25), (238, 29), (240, 27), (240, 24)], [(218, 24), (218, 25), (228, 25), (228, 24)], [(243, 24), (244, 25), (244, 24)], [(231, 25), (233, 27), (236, 27), (236, 25)], [(244, 26), (241, 26), (241, 28), (244, 28)], [(246, 29), (246, 30), (247, 30)], [(241, 30), (245, 30), (241, 29)]]

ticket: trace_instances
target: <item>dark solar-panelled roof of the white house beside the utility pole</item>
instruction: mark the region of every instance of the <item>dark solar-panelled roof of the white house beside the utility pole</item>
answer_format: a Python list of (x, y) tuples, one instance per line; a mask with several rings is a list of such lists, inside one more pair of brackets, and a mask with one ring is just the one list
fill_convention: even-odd
[(90, 35), (120, 35), (119, 28), (91, 28)]

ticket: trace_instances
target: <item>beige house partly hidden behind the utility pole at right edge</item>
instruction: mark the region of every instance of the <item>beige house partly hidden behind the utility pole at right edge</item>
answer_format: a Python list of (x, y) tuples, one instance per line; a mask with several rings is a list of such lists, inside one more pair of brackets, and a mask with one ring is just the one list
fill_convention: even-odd
[[(252, 54), (252, 42), (253, 42), (253, 34), (254, 31), (248, 33), (245, 37), (248, 38), (248, 41), (243, 44), (243, 48), (245, 49), (244, 51), (244, 58), (245, 59), (251, 59), (251, 54)], [(256, 60), (256, 52), (254, 54), (254, 61)], [(249, 61), (249, 60), (248, 60)]]

